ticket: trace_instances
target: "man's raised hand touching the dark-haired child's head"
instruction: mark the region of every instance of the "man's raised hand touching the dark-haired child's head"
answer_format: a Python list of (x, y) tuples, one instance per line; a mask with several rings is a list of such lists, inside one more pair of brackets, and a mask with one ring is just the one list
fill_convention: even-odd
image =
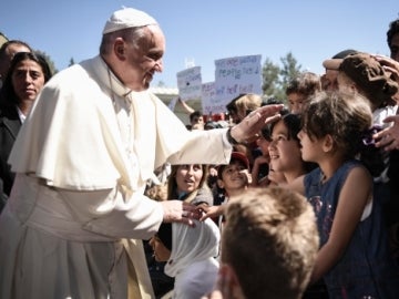
[(265, 124), (282, 117), (278, 113), (284, 105), (266, 105), (250, 112), (243, 121), (232, 127), (232, 137), (238, 143), (250, 143)]

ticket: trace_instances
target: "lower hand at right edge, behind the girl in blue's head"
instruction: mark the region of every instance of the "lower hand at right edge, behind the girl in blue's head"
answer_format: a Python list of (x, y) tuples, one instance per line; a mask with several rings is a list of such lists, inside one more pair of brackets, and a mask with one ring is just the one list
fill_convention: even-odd
[(399, 115), (388, 116), (383, 122), (393, 122), (393, 125), (372, 135), (376, 146), (383, 147), (385, 151), (399, 150)]

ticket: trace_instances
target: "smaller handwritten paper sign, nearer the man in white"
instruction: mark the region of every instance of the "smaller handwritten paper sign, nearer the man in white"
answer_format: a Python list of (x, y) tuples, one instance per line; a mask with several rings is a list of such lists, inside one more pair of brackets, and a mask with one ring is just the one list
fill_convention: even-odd
[(202, 78), (201, 66), (194, 66), (177, 73), (177, 87), (183, 101), (201, 99)]

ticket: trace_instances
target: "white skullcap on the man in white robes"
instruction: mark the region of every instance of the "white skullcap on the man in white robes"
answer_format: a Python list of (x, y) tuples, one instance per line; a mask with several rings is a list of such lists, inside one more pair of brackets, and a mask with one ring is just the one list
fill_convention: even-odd
[(136, 28), (150, 24), (157, 24), (157, 22), (146, 12), (133, 8), (123, 8), (112, 13), (111, 18), (105, 23), (103, 34), (126, 28)]

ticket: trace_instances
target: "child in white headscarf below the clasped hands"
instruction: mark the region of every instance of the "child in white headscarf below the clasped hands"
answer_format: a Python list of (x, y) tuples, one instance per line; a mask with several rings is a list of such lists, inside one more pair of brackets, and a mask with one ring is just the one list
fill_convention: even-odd
[[(173, 299), (200, 299), (209, 292), (217, 277), (221, 235), (213, 220), (162, 224), (150, 240), (157, 261), (167, 261), (165, 274), (174, 277)], [(167, 297), (170, 298), (170, 297)]]

